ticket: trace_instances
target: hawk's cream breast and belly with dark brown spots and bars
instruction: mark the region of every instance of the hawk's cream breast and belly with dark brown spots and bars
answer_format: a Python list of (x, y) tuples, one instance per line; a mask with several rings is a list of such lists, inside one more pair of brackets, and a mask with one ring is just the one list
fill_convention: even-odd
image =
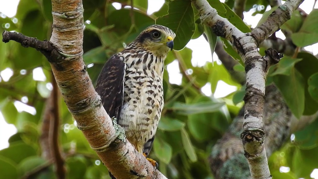
[(129, 142), (142, 152), (158, 126), (163, 108), (163, 61), (145, 51), (127, 58), (120, 125)]

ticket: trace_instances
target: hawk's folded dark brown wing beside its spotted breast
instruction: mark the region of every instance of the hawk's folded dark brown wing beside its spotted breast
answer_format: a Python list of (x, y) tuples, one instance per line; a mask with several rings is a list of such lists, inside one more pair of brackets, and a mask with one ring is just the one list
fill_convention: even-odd
[(120, 120), (124, 99), (125, 66), (122, 57), (110, 57), (98, 76), (95, 88), (107, 114), (117, 121)]

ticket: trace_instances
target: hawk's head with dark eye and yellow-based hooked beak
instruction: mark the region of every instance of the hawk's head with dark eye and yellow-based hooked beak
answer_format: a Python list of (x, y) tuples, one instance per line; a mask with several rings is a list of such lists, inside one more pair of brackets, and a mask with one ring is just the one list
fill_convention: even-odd
[(143, 30), (135, 41), (154, 54), (167, 55), (169, 50), (173, 48), (173, 39), (175, 37), (175, 32), (168, 27), (151, 25)]

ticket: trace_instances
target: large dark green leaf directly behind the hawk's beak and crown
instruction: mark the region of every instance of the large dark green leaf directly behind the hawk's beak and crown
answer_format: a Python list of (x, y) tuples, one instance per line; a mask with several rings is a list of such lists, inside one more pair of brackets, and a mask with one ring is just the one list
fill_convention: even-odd
[(169, 27), (176, 33), (174, 49), (181, 50), (190, 41), (194, 31), (194, 14), (190, 0), (169, 1), (169, 14), (157, 18), (156, 24)]

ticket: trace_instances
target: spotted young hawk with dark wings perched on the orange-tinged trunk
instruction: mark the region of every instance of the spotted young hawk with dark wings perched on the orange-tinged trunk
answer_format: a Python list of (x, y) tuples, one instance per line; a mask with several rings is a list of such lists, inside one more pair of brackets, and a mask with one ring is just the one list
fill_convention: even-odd
[(126, 49), (110, 57), (97, 79), (96, 92), (108, 115), (117, 118), (127, 140), (146, 157), (163, 108), (164, 60), (175, 37), (168, 27), (147, 27)]

